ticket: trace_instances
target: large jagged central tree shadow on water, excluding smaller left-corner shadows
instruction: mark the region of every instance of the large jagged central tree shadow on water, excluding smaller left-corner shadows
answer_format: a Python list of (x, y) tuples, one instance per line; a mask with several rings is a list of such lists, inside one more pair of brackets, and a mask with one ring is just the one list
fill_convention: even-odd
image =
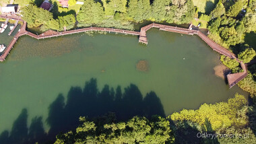
[(108, 112), (115, 113), (113, 117), (117, 121), (128, 120), (133, 116), (150, 118), (155, 114), (165, 117), (164, 108), (154, 92), (143, 98), (139, 88), (134, 84), (126, 87), (124, 93), (121, 92), (120, 86), (114, 90), (108, 85), (104, 85), (99, 91), (96, 79), (90, 79), (84, 89), (69, 89), (66, 104), (61, 95), (51, 104), (47, 118), (51, 127), (49, 135), (55, 137), (60, 131), (75, 129), (79, 125), (79, 116), (93, 119)]

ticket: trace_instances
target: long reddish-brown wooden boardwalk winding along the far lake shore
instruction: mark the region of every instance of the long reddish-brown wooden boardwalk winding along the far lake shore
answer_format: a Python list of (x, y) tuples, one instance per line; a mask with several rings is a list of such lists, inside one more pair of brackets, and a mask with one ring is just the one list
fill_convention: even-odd
[(236, 59), (236, 61), (238, 61), (241, 64), (243, 72), (232, 73), (232, 74), (227, 75), (228, 85), (230, 88), (233, 87), (234, 85), (236, 85), (236, 83), (238, 83), (239, 81), (241, 81), (243, 78), (245, 78), (248, 75), (247, 65), (245, 63), (243, 63), (242, 61), (239, 61), (236, 58), (236, 55), (234, 55), (234, 53), (232, 53), (229, 50), (227, 50), (226, 48), (220, 46), (219, 44), (214, 42), (212, 39), (208, 38), (205, 34), (200, 32), (199, 30), (192, 30), (191, 26), (187, 29), (187, 28), (177, 28), (174, 26), (166, 26), (166, 25), (162, 25), (162, 24), (149, 24), (148, 26), (142, 27), (140, 32), (135, 32), (135, 31), (130, 31), (130, 30), (120, 30), (120, 29), (115, 29), (115, 28), (90, 27), (90, 28), (81, 28), (81, 29), (77, 29), (77, 30), (69, 30), (69, 31), (65, 31), (65, 32), (56, 32), (53, 30), (48, 30), (40, 35), (36, 35), (31, 32), (28, 32), (26, 30), (26, 22), (24, 22), (20, 17), (14, 17), (14, 16), (10, 17), (10, 16), (3, 16), (3, 15), (1, 15), (1, 17), (6, 18), (6, 19), (12, 18), (15, 20), (22, 21), (23, 25), (20, 28), (19, 32), (17, 34), (15, 34), (13, 40), (11, 40), (11, 42), (7, 46), (3, 55), (0, 56), (0, 61), (5, 61), (5, 58), (9, 54), (11, 48), (13, 48), (13, 45), (17, 42), (18, 38), (20, 36), (24, 36), (24, 35), (28, 35), (28, 36), (31, 36), (32, 38), (36, 38), (39, 40), (39, 39), (44, 39), (44, 38), (64, 36), (67, 34), (77, 34), (79, 32), (89, 32), (89, 31), (115, 32), (115, 33), (120, 33), (120, 34), (131, 34), (131, 35), (139, 36), (139, 42), (141, 42), (143, 44), (148, 44), (148, 38), (147, 38), (146, 32), (148, 30), (150, 30), (150, 28), (159, 28), (160, 30), (163, 30), (166, 32), (176, 32), (179, 34), (189, 34), (189, 35), (196, 34), (197, 36), (199, 36), (199, 38), (201, 38), (204, 42), (206, 42), (216, 52), (220, 53), (221, 55), (225, 55), (226, 57), (230, 57), (231, 59)]

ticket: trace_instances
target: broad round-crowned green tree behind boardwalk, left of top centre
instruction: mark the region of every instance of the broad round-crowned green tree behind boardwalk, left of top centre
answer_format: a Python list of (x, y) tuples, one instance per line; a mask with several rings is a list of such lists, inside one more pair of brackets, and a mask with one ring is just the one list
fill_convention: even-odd
[(100, 3), (93, 0), (84, 1), (80, 11), (77, 14), (77, 21), (80, 24), (100, 24), (104, 19), (104, 11)]

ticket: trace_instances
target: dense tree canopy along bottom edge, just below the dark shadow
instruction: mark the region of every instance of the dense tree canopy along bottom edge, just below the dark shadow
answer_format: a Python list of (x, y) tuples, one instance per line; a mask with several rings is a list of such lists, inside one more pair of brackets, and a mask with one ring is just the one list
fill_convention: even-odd
[(76, 131), (57, 135), (59, 143), (166, 143), (174, 141), (170, 134), (170, 123), (160, 116), (152, 120), (135, 116), (127, 122), (102, 123), (90, 122), (84, 117)]

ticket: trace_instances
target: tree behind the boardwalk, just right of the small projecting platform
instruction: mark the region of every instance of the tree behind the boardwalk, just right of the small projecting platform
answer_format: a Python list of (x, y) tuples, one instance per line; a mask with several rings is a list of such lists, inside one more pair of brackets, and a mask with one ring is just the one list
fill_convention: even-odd
[(169, 5), (168, 0), (155, 0), (152, 4), (152, 20), (162, 22), (166, 18), (166, 7)]

